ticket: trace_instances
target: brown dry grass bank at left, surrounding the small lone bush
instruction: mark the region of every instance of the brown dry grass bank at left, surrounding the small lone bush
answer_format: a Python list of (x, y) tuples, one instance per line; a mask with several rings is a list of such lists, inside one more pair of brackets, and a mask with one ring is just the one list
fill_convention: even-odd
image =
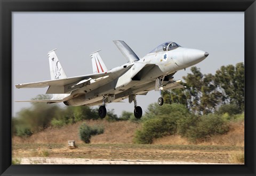
[[(108, 122), (106, 120), (85, 121), (88, 125), (102, 125), (105, 130), (101, 135), (93, 136), (91, 144), (132, 144), (134, 130), (139, 124), (129, 121)], [(83, 122), (70, 124), (65, 127), (49, 128), (36, 133), (29, 138), (13, 137), (14, 144), (67, 144), (68, 140), (75, 140), (76, 144), (82, 144), (78, 130)]]

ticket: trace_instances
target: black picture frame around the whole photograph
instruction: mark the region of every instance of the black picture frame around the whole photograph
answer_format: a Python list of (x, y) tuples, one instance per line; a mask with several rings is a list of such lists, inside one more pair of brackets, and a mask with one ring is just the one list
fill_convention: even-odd
[[(1, 175), (255, 175), (255, 24), (252, 0), (0, 0), (0, 174)], [(244, 165), (11, 165), (12, 12), (172, 11), (244, 12), (245, 164)]]

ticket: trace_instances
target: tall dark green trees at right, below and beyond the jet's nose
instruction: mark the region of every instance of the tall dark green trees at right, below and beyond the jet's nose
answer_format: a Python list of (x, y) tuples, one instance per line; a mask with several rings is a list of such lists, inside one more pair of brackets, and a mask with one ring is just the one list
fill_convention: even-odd
[(182, 77), (182, 89), (164, 91), (165, 103), (185, 105), (195, 114), (214, 113), (221, 105), (244, 111), (244, 63), (221, 66), (215, 74), (202, 74), (196, 66)]

